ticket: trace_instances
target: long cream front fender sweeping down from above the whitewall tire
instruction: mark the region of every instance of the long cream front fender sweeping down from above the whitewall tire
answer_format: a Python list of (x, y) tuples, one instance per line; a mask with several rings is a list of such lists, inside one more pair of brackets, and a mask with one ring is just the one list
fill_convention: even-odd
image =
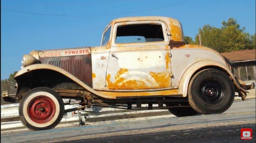
[(49, 64), (33, 64), (30, 66), (26, 66), (24, 68), (22, 68), (15, 76), (14, 79), (16, 79), (17, 77), (22, 76), (25, 73), (28, 73), (30, 71), (33, 70), (41, 70), (41, 69), (48, 69), (48, 70), (54, 70), (62, 75), (65, 75), (66, 77), (72, 79), (73, 81), (75, 81), (77, 84), (79, 84), (80, 86), (82, 86), (84, 89), (88, 90), (89, 92), (101, 96), (103, 98), (107, 98), (107, 99), (116, 99), (115, 96), (108, 96), (105, 94), (102, 94), (94, 89), (92, 89), (91, 87), (87, 86), (85, 83), (83, 83), (82, 81), (80, 81), (77, 77), (75, 77), (74, 75), (70, 74), (69, 72), (67, 72), (66, 70), (59, 68), (57, 66), (53, 66), (53, 65), (49, 65)]

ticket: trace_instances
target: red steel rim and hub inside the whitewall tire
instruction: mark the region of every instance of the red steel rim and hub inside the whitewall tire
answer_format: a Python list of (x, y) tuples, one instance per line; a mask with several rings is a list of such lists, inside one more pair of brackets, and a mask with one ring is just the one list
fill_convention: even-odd
[(51, 98), (38, 96), (30, 101), (27, 112), (32, 121), (43, 124), (54, 117), (56, 106)]

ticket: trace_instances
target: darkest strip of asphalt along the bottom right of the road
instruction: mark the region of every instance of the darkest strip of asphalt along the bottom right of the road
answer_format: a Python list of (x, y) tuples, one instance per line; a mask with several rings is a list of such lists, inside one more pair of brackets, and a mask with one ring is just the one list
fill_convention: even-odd
[[(255, 133), (255, 123), (235, 126), (220, 126), (214, 128), (200, 128), (178, 131), (165, 131), (158, 133), (144, 133), (135, 135), (122, 135), (105, 138), (93, 138), (82, 140), (71, 140), (56, 143), (163, 143), (163, 142), (178, 142), (178, 143), (199, 143), (199, 142), (243, 142), (240, 139), (241, 128), (251, 128)], [(255, 143), (255, 134), (253, 139), (246, 141)]]

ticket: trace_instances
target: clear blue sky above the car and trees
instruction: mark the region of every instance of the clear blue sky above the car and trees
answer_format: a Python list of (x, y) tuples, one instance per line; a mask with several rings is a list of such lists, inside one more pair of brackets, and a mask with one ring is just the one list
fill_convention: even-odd
[[(186, 2), (172, 5), (183, 1)], [(137, 12), (166, 5), (172, 6)], [(45, 16), (1, 10), (1, 79), (20, 70), (22, 55), (33, 49), (100, 45), (104, 28), (112, 19), (119, 17), (176, 18), (181, 21), (184, 34), (193, 38), (203, 25), (220, 27), (223, 20), (233, 17), (242, 27), (246, 27), (247, 32), (253, 34), (255, 5), (254, 0), (1, 0), (1, 9), (54, 15), (87, 15)], [(137, 13), (120, 14), (129, 12)]]

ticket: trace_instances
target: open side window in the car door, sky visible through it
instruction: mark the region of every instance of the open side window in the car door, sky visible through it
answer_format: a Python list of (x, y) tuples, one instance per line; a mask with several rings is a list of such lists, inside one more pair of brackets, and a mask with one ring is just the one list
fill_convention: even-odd
[(161, 24), (130, 24), (117, 27), (116, 43), (164, 41)]

